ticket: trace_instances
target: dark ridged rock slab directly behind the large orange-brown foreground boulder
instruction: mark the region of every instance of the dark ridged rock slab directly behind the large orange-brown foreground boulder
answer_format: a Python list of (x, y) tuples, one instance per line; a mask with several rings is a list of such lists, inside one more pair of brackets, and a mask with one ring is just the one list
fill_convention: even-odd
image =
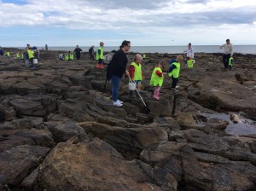
[(150, 145), (166, 142), (168, 135), (162, 128), (122, 128), (118, 126), (109, 126), (107, 124), (79, 123), (87, 133), (91, 133), (105, 142), (108, 142), (119, 153), (122, 153), (126, 159), (136, 158), (143, 148)]

